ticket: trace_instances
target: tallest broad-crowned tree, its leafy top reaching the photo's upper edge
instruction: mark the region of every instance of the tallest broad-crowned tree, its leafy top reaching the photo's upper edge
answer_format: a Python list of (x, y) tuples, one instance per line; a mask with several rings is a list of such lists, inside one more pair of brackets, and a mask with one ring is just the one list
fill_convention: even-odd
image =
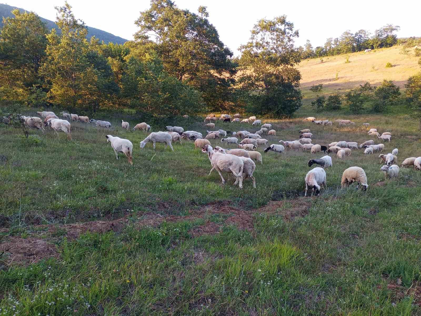
[(229, 102), (236, 64), (208, 16), (203, 6), (196, 14), (177, 8), (171, 0), (152, 0), (135, 22), (140, 28), (135, 40), (157, 51), (165, 70), (199, 90), (210, 108), (223, 107)]

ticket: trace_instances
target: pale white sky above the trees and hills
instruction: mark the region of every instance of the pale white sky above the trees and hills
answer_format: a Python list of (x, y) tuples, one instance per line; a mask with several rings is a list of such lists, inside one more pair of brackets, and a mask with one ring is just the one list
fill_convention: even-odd
[[(139, 12), (150, 6), (149, 0), (68, 0), (77, 19), (128, 40), (137, 31), (134, 21)], [(300, 31), (297, 45), (309, 39), (315, 48), (323, 46), (326, 38), (338, 37), (346, 29), (355, 32), (368, 29), (374, 32), (388, 23), (401, 27), (398, 37), (421, 36), (420, 0), (175, 0), (176, 5), (197, 13), (199, 5), (208, 7), (209, 20), (216, 27), (220, 39), (234, 55), (246, 43), (250, 30), (258, 19), (272, 19), (286, 14)], [(55, 21), (54, 6), (64, 4), (58, 0), (9, 0), (8, 5), (34, 11), (39, 16)]]

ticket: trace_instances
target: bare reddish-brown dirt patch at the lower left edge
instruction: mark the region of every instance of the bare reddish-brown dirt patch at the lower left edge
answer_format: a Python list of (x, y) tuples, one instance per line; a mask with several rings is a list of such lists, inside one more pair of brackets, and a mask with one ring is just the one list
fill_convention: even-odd
[(32, 264), (42, 259), (59, 257), (56, 246), (48, 244), (44, 239), (21, 238), (13, 236), (0, 244), (0, 252), (5, 252), (5, 264), (26, 263)]

